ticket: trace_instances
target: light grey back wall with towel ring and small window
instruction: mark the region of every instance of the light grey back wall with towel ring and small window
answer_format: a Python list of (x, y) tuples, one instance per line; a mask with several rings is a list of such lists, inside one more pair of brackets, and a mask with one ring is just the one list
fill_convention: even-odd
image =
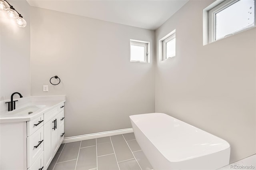
[(152, 61), (154, 31), (31, 7), (31, 95), (66, 94), (65, 137), (130, 128), (129, 115), (155, 111), (153, 62), (130, 62), (130, 39), (150, 42)]

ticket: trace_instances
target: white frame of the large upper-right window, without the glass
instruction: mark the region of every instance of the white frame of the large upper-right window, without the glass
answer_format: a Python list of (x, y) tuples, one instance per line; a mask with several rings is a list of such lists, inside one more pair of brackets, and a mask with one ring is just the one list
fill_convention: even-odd
[(222, 10), (224, 10), (225, 8), (228, 8), (229, 6), (235, 4), (236, 2), (238, 2), (240, 0), (224, 0), (223, 2), (221, 2), (220, 4), (214, 6), (213, 8), (211, 8), (208, 11), (208, 43), (212, 43), (218, 40), (221, 40), (223, 38), (238, 34), (240, 32), (249, 30), (251, 28), (255, 28), (256, 27), (256, 0), (254, 0), (254, 26), (242, 29), (240, 31), (236, 31), (232, 34), (228, 34), (222, 38), (219, 38), (218, 40), (216, 40), (216, 14)]

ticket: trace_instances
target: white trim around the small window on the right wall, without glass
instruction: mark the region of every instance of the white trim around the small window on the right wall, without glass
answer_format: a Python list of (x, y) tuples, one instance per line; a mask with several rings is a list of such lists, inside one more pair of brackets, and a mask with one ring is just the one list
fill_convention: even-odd
[[(159, 61), (164, 61), (166, 60), (166, 43), (169, 42), (170, 40), (173, 40), (176, 38), (176, 29), (164, 36), (159, 40), (158, 43), (158, 56), (159, 56)], [(175, 49), (175, 56), (176, 56), (176, 49)], [(175, 57), (173, 56), (173, 57)], [(169, 57), (167, 59), (173, 58)]]

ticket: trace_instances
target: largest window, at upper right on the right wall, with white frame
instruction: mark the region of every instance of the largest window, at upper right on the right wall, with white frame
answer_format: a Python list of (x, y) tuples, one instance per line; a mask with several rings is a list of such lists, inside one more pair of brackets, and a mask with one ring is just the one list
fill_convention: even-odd
[(255, 0), (225, 0), (208, 10), (208, 42), (255, 27)]

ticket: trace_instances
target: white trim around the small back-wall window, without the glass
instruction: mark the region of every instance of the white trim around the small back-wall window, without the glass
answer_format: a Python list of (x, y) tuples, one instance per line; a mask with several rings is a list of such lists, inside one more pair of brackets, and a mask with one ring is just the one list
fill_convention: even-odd
[[(131, 45), (144, 47), (144, 61), (136, 61), (131, 59)], [(150, 62), (150, 43), (139, 41), (139, 40), (130, 40), (130, 62), (139, 62), (139, 63), (149, 63)]]

